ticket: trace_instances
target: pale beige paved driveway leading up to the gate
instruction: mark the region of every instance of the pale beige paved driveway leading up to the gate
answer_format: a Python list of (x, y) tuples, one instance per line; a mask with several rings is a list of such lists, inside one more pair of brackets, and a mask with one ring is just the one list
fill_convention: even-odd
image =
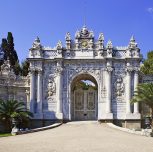
[(153, 138), (97, 122), (73, 122), (46, 131), (0, 138), (0, 152), (153, 152)]

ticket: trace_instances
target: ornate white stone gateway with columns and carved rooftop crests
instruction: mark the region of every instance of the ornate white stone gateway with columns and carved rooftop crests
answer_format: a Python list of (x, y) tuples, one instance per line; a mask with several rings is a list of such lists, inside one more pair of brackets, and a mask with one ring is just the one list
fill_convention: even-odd
[[(111, 41), (105, 46), (102, 33), (95, 40), (93, 31), (83, 27), (74, 40), (70, 33), (65, 39), (65, 47), (59, 41), (50, 48), (37, 38), (29, 51), (29, 102), (35, 119), (138, 124), (139, 106), (130, 104), (141, 61), (134, 37), (126, 47), (114, 47)], [(86, 79), (95, 90), (76, 87)]]

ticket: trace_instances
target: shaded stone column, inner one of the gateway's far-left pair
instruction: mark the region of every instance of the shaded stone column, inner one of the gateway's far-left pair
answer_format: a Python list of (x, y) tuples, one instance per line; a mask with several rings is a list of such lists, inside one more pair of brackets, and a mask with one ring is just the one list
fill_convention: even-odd
[(37, 79), (37, 112), (42, 113), (42, 71), (38, 71)]

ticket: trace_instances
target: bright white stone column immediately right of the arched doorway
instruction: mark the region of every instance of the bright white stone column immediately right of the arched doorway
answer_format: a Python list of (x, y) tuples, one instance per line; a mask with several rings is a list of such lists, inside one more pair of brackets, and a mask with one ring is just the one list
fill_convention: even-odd
[(111, 111), (111, 99), (112, 99), (112, 67), (107, 67), (106, 69), (106, 119), (113, 119), (113, 114)]

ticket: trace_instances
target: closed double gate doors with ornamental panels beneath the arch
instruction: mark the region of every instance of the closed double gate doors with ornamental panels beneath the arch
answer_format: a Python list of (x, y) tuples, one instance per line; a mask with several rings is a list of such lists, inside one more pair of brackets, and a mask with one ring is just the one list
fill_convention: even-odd
[(74, 91), (74, 119), (96, 120), (97, 91), (75, 90)]

